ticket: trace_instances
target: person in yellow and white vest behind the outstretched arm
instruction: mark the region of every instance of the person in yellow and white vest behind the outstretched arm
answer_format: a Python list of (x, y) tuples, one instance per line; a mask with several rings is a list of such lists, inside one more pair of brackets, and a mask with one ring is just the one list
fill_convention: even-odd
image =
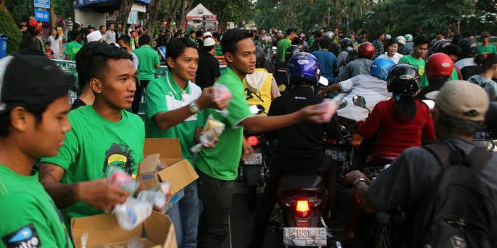
[(271, 101), (281, 94), (278, 86), (271, 73), (264, 69), (266, 56), (260, 47), (255, 47), (255, 71), (252, 74), (247, 74), (244, 79), (245, 100), (247, 104), (261, 105), (264, 111), (261, 116), (266, 116), (271, 106)]

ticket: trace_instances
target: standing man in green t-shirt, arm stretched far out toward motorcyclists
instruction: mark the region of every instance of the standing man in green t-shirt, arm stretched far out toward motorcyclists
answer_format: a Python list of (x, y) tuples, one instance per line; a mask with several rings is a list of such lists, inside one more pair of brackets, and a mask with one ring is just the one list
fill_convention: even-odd
[(244, 128), (249, 132), (265, 132), (303, 121), (320, 122), (316, 115), (323, 113), (314, 110), (316, 106), (309, 106), (284, 116), (252, 116), (242, 81), (255, 70), (256, 50), (251, 35), (247, 30), (230, 29), (224, 34), (221, 45), (228, 67), (217, 83), (228, 87), (233, 99), (227, 116), (213, 109), (205, 111), (206, 117), (212, 115), (226, 126), (216, 146), (202, 149), (196, 162), (199, 198), (204, 206), (198, 229), (199, 248), (222, 247), (226, 238), (226, 224), (242, 157)]

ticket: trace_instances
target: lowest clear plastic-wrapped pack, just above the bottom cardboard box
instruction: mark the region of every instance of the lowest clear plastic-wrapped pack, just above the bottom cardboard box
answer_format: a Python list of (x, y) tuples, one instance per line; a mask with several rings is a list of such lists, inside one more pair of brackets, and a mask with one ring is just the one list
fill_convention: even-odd
[(152, 204), (128, 197), (124, 204), (116, 205), (112, 214), (122, 229), (133, 230), (152, 214)]

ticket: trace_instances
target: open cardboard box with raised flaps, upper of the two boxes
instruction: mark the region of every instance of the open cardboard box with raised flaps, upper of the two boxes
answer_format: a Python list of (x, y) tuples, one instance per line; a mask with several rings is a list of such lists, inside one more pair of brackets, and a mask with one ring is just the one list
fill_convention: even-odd
[[(167, 204), (167, 210), (183, 197), (183, 188), (197, 180), (199, 175), (190, 162), (182, 157), (180, 140), (177, 138), (146, 138), (143, 154), (145, 159), (138, 167), (138, 176), (148, 189), (160, 182), (172, 182), (173, 197)], [(169, 167), (157, 172), (158, 162)]]

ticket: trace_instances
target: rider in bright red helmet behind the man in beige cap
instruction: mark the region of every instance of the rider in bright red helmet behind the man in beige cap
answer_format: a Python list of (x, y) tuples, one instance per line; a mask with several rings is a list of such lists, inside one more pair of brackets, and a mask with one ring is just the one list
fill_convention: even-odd
[(430, 56), (426, 62), (426, 76), (430, 83), (427, 87), (423, 88), (417, 95), (421, 100), (426, 99), (425, 95), (432, 91), (438, 91), (454, 71), (454, 62), (445, 53), (435, 53)]

